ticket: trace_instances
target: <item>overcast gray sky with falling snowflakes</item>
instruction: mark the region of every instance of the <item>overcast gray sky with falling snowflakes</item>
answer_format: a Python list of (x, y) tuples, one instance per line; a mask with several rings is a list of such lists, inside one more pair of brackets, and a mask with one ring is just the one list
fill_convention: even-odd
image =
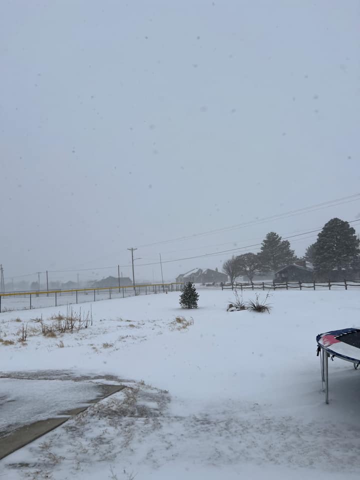
[[(6, 278), (102, 277), (117, 264), (127, 276), (137, 246), (138, 278), (160, 278), (158, 264), (141, 264), (161, 252), (173, 279), (220, 269), (231, 252), (167, 260), (360, 217), (357, 196), (254, 223), (360, 191), (359, 1), (2, 0), (0, 9)], [(220, 231), (192, 236), (210, 230)], [(158, 243), (178, 237), (188, 238)], [(315, 238), (290, 241), (301, 255)], [(248, 250), (258, 247), (234, 253)]]

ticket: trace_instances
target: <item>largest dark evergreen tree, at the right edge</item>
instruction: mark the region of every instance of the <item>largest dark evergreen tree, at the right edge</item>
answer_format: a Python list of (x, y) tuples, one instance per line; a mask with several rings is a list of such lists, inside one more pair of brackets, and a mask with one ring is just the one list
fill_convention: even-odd
[(347, 221), (332, 218), (323, 226), (314, 244), (315, 271), (330, 277), (332, 270), (351, 268), (358, 256), (359, 239)]

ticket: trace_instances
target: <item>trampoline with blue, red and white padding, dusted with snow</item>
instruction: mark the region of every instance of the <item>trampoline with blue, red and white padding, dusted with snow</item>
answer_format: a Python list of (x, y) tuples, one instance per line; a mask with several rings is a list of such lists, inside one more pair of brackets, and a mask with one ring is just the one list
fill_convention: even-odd
[(328, 357), (350, 361), (357, 369), (360, 364), (360, 328), (343, 328), (316, 336), (320, 354), (321, 380), (325, 383), (325, 402), (328, 403)]

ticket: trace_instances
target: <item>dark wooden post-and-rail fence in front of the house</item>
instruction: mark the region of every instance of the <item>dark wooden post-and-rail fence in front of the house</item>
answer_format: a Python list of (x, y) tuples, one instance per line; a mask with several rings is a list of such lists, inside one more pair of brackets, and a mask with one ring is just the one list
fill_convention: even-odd
[[(222, 283), (221, 289), (236, 289), (236, 290), (289, 290), (296, 289), (302, 290), (303, 288), (311, 288), (312, 290), (331, 290), (332, 287), (340, 287), (345, 290), (351, 290), (356, 287), (360, 287), (360, 280), (343, 280), (343, 281), (285, 281), (278, 282), (251, 282), (251, 283)], [(336, 288), (338, 289), (338, 288)]]

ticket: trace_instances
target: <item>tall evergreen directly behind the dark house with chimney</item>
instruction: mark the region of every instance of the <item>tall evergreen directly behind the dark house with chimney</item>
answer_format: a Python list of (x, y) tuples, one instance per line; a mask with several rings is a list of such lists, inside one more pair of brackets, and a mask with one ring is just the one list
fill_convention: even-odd
[(287, 240), (281, 240), (277, 233), (270, 231), (261, 243), (258, 259), (262, 271), (277, 271), (281, 266), (293, 263), (296, 256)]

